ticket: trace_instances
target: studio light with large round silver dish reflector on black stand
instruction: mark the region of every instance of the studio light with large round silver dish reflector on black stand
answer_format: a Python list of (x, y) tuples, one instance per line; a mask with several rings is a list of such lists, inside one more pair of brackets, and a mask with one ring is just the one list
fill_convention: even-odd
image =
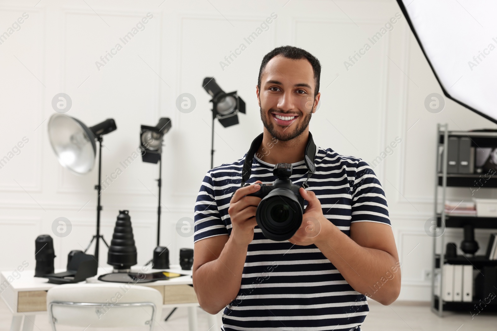
[(87, 127), (73, 117), (64, 114), (54, 114), (48, 122), (48, 137), (50, 144), (59, 160), (59, 163), (69, 169), (72, 173), (83, 175), (91, 171), (95, 164), (96, 141), (98, 141), (98, 184), (95, 190), (98, 191), (96, 206), (96, 234), (91, 239), (89, 249), (93, 240), (95, 241), (95, 259), (98, 262), (98, 248), (100, 239), (107, 245), (103, 236), (100, 235), (100, 178), (102, 174), (102, 136), (117, 129), (113, 119), (107, 119), (93, 127)]

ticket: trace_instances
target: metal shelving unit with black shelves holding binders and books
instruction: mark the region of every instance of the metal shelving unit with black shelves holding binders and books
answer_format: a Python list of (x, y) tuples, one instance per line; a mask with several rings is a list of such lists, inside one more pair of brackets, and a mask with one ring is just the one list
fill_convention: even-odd
[[(434, 203), (434, 217), (436, 219), (436, 226), (440, 228), (443, 224), (445, 228), (462, 228), (466, 224), (472, 224), (475, 228), (483, 229), (496, 229), (497, 217), (476, 217), (476, 216), (455, 216), (447, 215), (445, 213), (445, 200), (447, 187), (476, 187), (475, 178), (479, 178), (479, 174), (447, 174), (447, 147), (449, 136), (464, 136), (470, 137), (472, 145), (475, 147), (490, 147), (497, 146), (497, 132), (464, 132), (464, 131), (449, 131), (448, 124), (437, 124), (437, 143), (436, 143), (436, 168), (435, 168), (435, 203)], [(442, 158), (439, 159), (439, 147), (443, 146)], [(441, 164), (439, 164), (441, 162)], [(441, 167), (440, 167), (441, 166)], [(441, 168), (441, 172), (438, 169)], [(497, 176), (491, 176), (485, 184), (486, 188), (497, 188)], [(439, 188), (441, 188), (441, 201), (442, 210), (437, 211)], [(437, 239), (441, 240), (441, 253), (436, 253)], [(433, 236), (433, 255), (432, 255), (432, 269), (431, 269), (431, 311), (440, 317), (443, 317), (443, 311), (464, 311), (474, 309), (473, 306), (479, 303), (473, 293), (472, 302), (462, 301), (444, 301), (440, 300), (435, 294), (435, 271), (438, 269), (440, 274), (439, 290), (443, 292), (443, 264), (454, 265), (473, 265), (474, 268), (481, 268), (485, 265), (497, 265), (497, 261), (488, 260), (485, 256), (466, 257), (458, 255), (456, 258), (445, 258), (445, 242), (444, 233), (439, 237)], [(442, 257), (442, 258), (441, 258)], [(489, 304), (486, 308), (487, 311), (497, 311), (497, 304)]]

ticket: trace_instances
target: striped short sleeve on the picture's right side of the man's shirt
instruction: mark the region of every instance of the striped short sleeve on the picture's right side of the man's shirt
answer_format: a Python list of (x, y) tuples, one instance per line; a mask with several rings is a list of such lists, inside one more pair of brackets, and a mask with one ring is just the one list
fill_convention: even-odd
[(378, 222), (390, 226), (385, 192), (373, 169), (359, 160), (352, 187), (352, 222)]

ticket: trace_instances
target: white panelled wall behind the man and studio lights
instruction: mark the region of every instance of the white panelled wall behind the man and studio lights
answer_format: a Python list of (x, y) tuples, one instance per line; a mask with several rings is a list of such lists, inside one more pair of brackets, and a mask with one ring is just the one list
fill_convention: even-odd
[[(28, 18), (15, 24), (23, 13)], [(144, 17), (147, 23), (138, 24)], [(271, 23), (263, 24), (268, 17)], [(399, 299), (429, 300), (423, 270), (431, 269), (432, 239), (424, 224), (433, 216), (436, 123), (448, 123), (451, 130), (496, 126), (448, 99), (438, 114), (424, 108), (428, 94), (442, 92), (395, 1), (0, 1), (4, 32), (0, 158), (8, 162), (0, 169), (0, 269), (23, 261), (34, 268), (39, 234), (52, 235), (56, 267), (64, 268), (69, 251), (85, 247), (94, 232), (96, 167), (85, 176), (71, 174), (48, 141), (52, 98), (61, 92), (72, 98), (67, 115), (89, 126), (116, 121), (117, 131), (104, 136), (102, 175), (117, 168), (122, 173), (102, 193), (102, 232), (110, 240), (118, 211), (129, 209), (140, 264), (155, 247), (158, 167), (140, 158), (126, 168), (120, 162), (138, 147), (141, 124), (171, 118), (163, 155), (161, 244), (168, 246), (171, 263), (178, 263), (179, 248), (193, 248), (193, 237), (179, 236), (176, 223), (193, 218), (210, 166), (210, 98), (203, 78), (214, 76), (247, 103), (240, 125), (215, 124), (216, 166), (242, 157), (261, 132), (255, 95), (260, 61), (274, 47), (289, 44), (311, 52), (323, 67), (321, 104), (310, 124), (316, 143), (370, 164), (384, 158), (374, 171), (386, 192), (403, 265)], [(120, 38), (128, 32), (133, 37), (124, 43)], [(257, 37), (248, 43), (245, 38), (254, 32)], [(225, 57), (241, 44), (241, 54), (228, 63)], [(365, 44), (367, 51), (361, 50)], [(103, 62), (107, 52), (114, 55)], [(355, 52), (363, 55), (351, 61)], [(182, 93), (196, 100), (190, 113), (175, 106)], [(23, 138), (28, 142), (15, 148)], [(402, 141), (391, 151), (387, 147), (396, 138)], [(469, 192), (449, 190), (461, 199)], [(485, 189), (477, 194), (493, 195)], [(58, 217), (72, 223), (67, 237), (52, 232)], [(461, 241), (461, 231), (447, 234)], [(477, 231), (483, 247), (477, 254), (487, 236)], [(102, 248), (100, 265), (109, 267), (106, 254)]]

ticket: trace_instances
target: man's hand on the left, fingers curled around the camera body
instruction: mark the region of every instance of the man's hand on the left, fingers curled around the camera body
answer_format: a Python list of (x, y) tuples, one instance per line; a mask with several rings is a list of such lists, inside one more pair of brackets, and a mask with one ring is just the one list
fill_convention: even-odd
[[(262, 184), (256, 181), (254, 184)], [(255, 212), (259, 205), (260, 198), (248, 197), (260, 190), (260, 185), (250, 185), (238, 189), (230, 200), (228, 214), (231, 218), (231, 237), (240, 245), (248, 246), (253, 240), (253, 228), (257, 225)]]

